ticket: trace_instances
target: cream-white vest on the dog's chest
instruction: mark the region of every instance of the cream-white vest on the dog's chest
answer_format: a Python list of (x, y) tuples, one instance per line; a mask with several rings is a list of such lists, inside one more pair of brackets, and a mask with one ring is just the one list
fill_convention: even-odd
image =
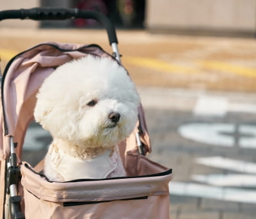
[(65, 181), (73, 179), (104, 179), (117, 169), (118, 154), (109, 149), (104, 154), (90, 159), (70, 156), (61, 149), (50, 149), (52, 169), (61, 174)]

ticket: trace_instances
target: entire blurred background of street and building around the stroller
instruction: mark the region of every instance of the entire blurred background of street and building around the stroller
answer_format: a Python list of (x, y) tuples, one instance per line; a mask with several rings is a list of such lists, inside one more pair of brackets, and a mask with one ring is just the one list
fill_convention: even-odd
[[(145, 109), (152, 160), (173, 169), (171, 218), (255, 218), (255, 0), (1, 1), (1, 10), (96, 10), (117, 29), (122, 63)], [(93, 20), (0, 22), (1, 70), (42, 42), (97, 43)], [(35, 164), (51, 137), (36, 123), (23, 159)]]

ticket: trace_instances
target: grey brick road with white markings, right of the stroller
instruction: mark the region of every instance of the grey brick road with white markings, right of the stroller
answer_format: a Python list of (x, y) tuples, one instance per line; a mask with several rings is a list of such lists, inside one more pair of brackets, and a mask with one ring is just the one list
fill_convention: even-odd
[[(169, 103), (152, 101), (154, 107), (148, 102), (149, 96), (163, 91)], [(255, 218), (256, 114), (244, 112), (248, 107), (222, 114), (198, 110), (202, 98), (244, 106), (255, 104), (255, 94), (244, 96), (241, 103), (238, 93), (140, 92), (154, 145), (150, 158), (173, 168), (172, 218)]]

